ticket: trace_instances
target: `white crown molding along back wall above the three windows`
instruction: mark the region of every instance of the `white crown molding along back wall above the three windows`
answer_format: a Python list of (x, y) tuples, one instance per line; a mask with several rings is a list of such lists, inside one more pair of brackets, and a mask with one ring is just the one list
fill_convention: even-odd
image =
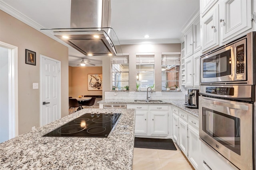
[(172, 44), (180, 43), (180, 39), (136, 39), (136, 40), (120, 40), (120, 45), (131, 44)]

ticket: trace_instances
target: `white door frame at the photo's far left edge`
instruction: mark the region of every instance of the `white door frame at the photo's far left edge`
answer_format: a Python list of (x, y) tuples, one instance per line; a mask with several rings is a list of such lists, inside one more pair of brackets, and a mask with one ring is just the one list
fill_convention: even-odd
[(18, 47), (0, 41), (0, 46), (8, 49), (9, 83), (9, 139), (18, 136)]

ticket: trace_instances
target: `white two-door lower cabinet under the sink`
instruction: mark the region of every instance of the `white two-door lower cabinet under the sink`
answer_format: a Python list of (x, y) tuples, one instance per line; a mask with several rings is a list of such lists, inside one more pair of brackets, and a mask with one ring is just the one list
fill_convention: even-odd
[(168, 105), (130, 105), (136, 109), (135, 135), (168, 136)]

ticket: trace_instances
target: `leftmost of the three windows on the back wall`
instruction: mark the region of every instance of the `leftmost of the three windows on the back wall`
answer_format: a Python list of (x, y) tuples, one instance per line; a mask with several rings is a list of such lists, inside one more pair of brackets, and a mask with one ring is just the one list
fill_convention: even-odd
[(111, 57), (112, 87), (122, 90), (129, 86), (129, 56), (117, 55)]

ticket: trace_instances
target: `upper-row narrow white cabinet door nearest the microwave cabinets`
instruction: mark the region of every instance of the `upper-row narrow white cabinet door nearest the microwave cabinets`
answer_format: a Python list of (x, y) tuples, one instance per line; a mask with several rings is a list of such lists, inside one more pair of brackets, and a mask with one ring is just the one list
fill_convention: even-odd
[(193, 52), (196, 53), (201, 48), (200, 18), (196, 19), (193, 26)]

